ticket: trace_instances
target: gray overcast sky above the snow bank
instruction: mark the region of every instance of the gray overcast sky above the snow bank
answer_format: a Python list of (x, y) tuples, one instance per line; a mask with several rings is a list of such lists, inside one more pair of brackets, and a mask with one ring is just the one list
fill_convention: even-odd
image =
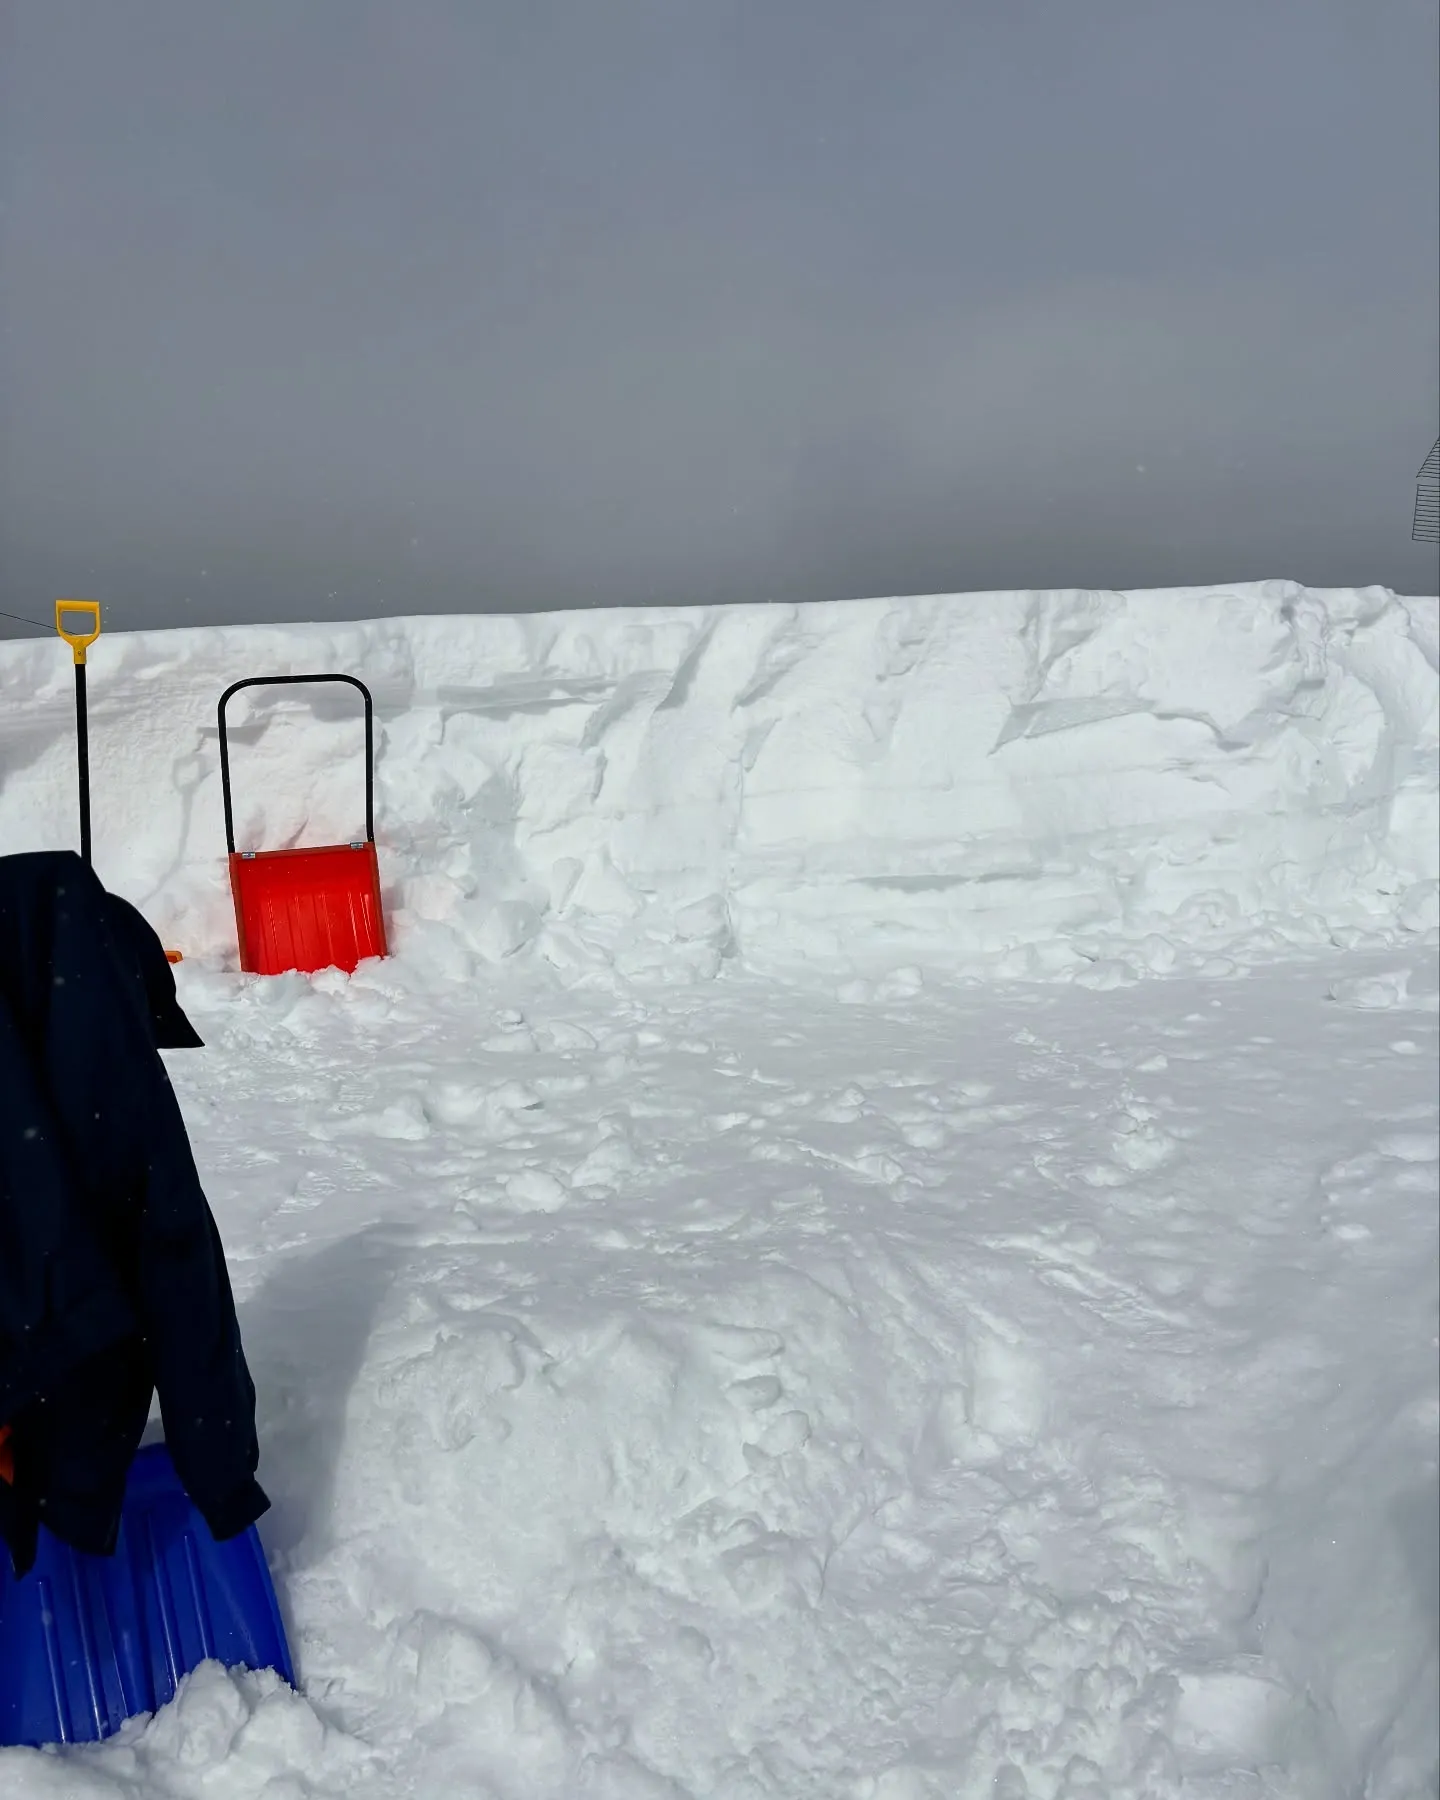
[(1436, 38), (0, 0), (0, 607), (1435, 592)]

